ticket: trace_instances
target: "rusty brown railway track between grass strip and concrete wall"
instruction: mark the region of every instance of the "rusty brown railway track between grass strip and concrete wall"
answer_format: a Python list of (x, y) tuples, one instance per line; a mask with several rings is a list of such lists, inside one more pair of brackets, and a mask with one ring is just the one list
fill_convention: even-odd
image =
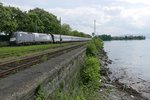
[(79, 48), (84, 45), (85, 45), (85, 43), (78, 44), (78, 45), (72, 45), (72, 46), (65, 46), (65, 47), (61, 47), (61, 48), (55, 48), (53, 50), (50, 50), (49, 52), (44, 52), (42, 54), (35, 55), (32, 57), (27, 57), (27, 58), (22, 58), (20, 60), (1, 63), (0, 64), (0, 78), (7, 77), (18, 71), (22, 71), (22, 70), (29, 68), (35, 64), (44, 62), (53, 57), (62, 55), (66, 52), (69, 52), (73, 49)]

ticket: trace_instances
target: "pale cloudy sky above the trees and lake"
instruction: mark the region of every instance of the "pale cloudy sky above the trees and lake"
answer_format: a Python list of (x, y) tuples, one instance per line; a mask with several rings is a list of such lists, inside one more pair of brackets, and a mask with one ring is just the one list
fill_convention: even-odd
[(150, 36), (150, 0), (0, 0), (28, 11), (42, 8), (72, 29), (92, 34)]

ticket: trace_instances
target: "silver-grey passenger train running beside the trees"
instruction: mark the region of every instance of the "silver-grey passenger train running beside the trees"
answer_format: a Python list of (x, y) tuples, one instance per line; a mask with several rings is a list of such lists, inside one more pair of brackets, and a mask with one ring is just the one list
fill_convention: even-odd
[(10, 38), (10, 44), (24, 45), (24, 44), (39, 44), (39, 43), (64, 43), (64, 42), (83, 42), (89, 40), (91, 40), (91, 38), (60, 35), (60, 34), (14, 32), (12, 37)]

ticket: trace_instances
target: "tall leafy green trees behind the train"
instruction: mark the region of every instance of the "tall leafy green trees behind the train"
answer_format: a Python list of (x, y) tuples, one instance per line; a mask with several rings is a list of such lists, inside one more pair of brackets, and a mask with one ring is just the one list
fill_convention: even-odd
[(68, 24), (61, 25), (57, 16), (43, 9), (35, 8), (27, 12), (0, 3), (0, 32), (11, 36), (15, 31), (91, 37), (83, 32), (72, 30)]

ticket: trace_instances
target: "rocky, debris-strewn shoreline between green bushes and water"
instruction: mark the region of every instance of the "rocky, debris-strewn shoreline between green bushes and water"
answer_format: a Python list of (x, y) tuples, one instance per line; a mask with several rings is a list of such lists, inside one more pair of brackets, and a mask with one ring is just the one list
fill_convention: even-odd
[(141, 93), (136, 91), (130, 86), (121, 83), (119, 79), (111, 81), (109, 78), (112, 72), (110, 71), (108, 65), (112, 64), (112, 61), (108, 58), (107, 52), (102, 50), (99, 54), (99, 59), (101, 61), (101, 87), (100, 93), (109, 89), (107, 93), (107, 99), (109, 100), (149, 100), (148, 98), (142, 96)]

